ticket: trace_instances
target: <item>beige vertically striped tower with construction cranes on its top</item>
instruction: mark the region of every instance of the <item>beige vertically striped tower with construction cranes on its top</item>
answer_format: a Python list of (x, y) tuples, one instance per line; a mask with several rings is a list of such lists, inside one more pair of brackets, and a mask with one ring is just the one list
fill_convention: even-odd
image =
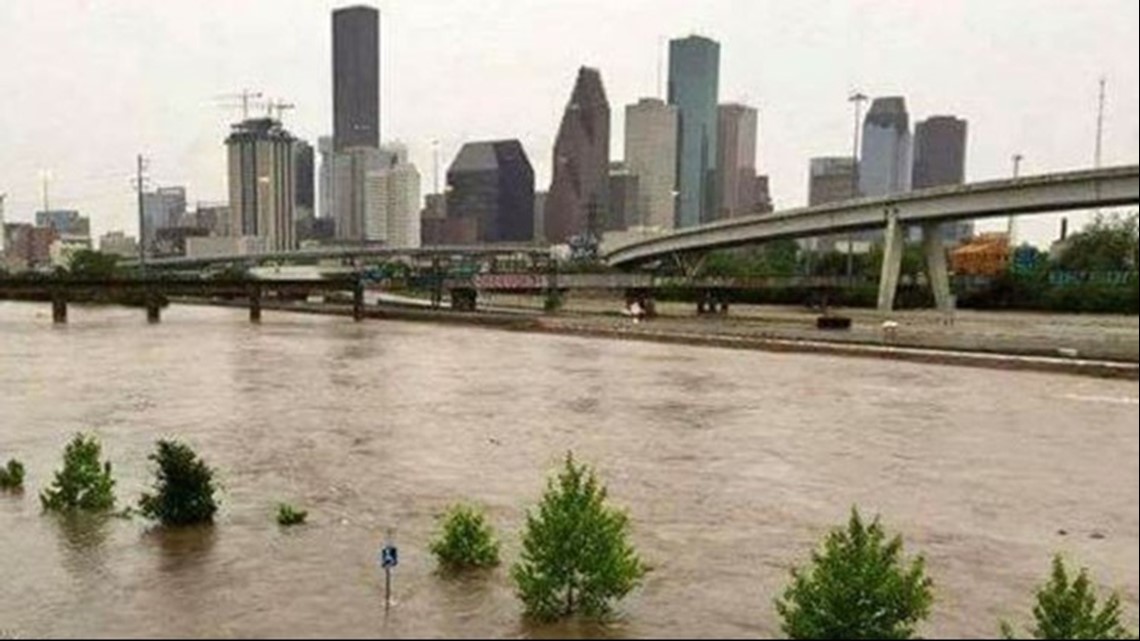
[(226, 139), (231, 236), (264, 238), (270, 251), (296, 248), (294, 141), (276, 120), (251, 119), (234, 125)]

